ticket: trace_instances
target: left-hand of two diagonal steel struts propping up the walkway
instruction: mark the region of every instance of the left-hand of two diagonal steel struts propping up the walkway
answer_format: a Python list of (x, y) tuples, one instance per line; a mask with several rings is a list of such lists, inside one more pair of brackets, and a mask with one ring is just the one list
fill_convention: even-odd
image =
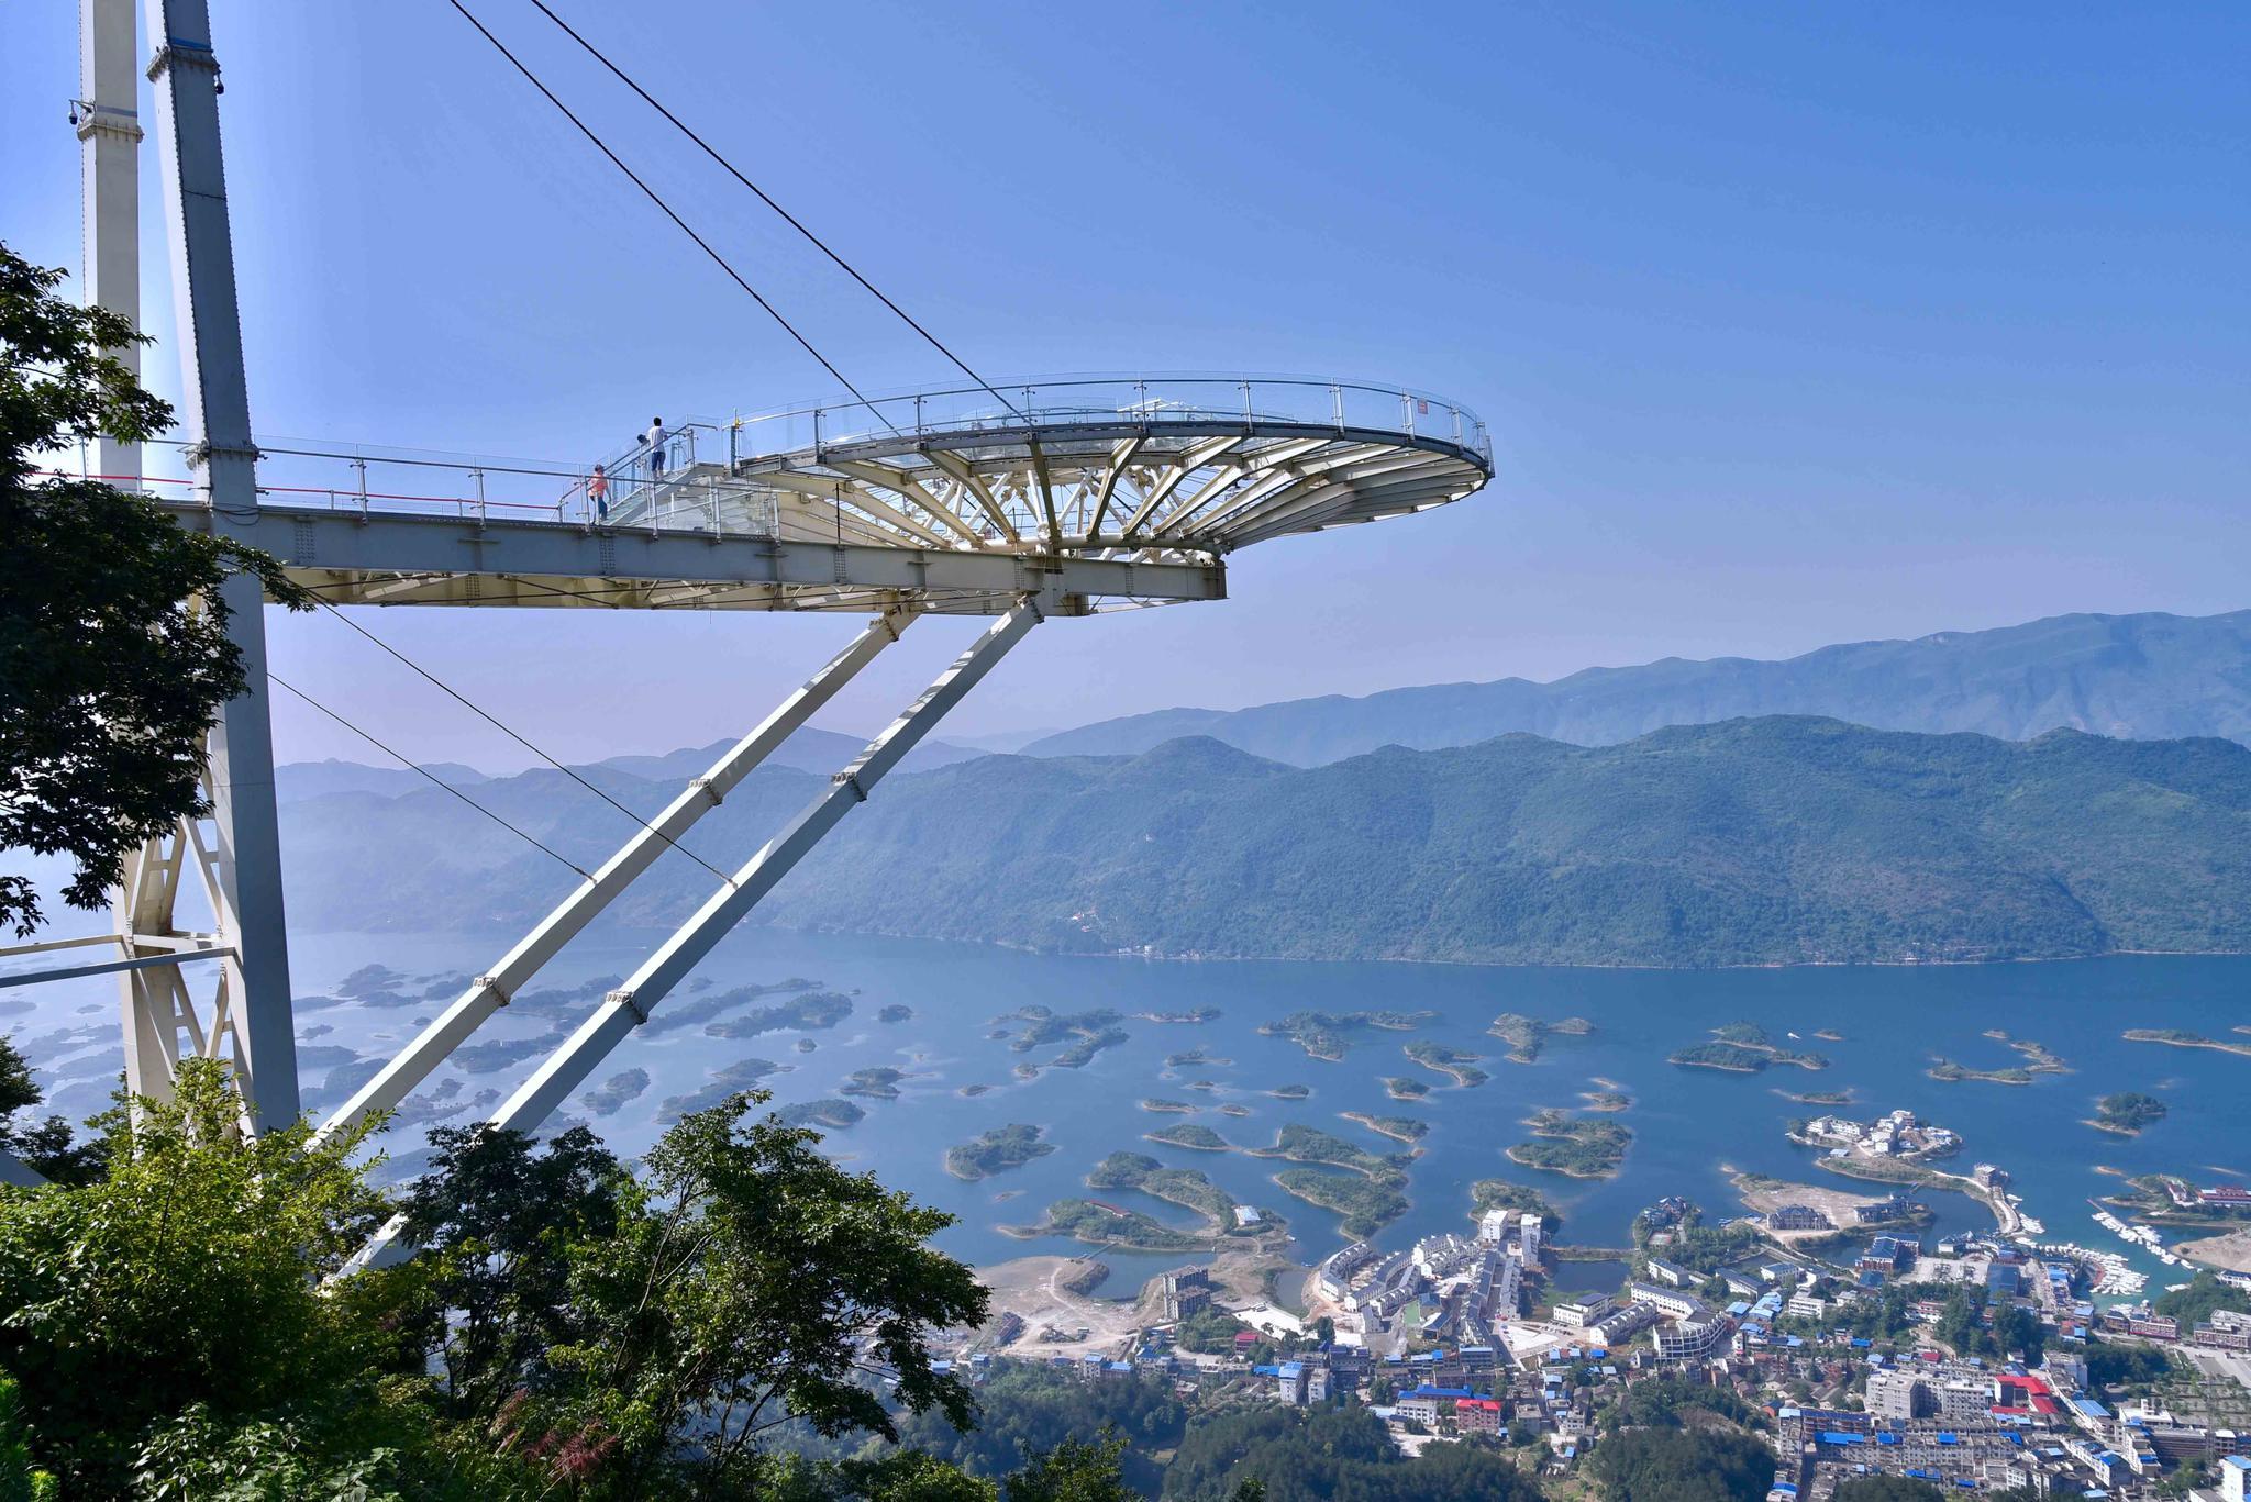
[(633, 840), (628, 840), (601, 869), (579, 885), (576, 892), (563, 898), (563, 903), (540, 919), (538, 928), (522, 937), (522, 941), (500, 957), (500, 964), (491, 973), (479, 975), (477, 982), (464, 991), (452, 1007), (448, 1007), (437, 1020), (432, 1020), (421, 1036), (414, 1038), (396, 1058), (392, 1058), (380, 1074), (360, 1085), (360, 1090), (344, 1101), (335, 1115), (322, 1121), (315, 1142), (326, 1142), (340, 1130), (356, 1126), (371, 1112), (392, 1110), (403, 1099), (407, 1099), (416, 1085), (430, 1079), (461, 1043), (468, 1040), (486, 1018), (509, 1004), (513, 995), (545, 966), (554, 955), (570, 944), (588, 923), (601, 914), (633, 880), (646, 871), (657, 856), (678, 844), (696, 820), (707, 815), (711, 808), (720, 806), (725, 799), (761, 761), (765, 761), (774, 748), (790, 739), (806, 721), (810, 721), (822, 705), (835, 698), (837, 689), (853, 680), (853, 676), (876, 660), (876, 655), (898, 640), (898, 635), (914, 624), (918, 608), (900, 606), (885, 610), (867, 628), (853, 637), (851, 646), (840, 651), (828, 660), (828, 667), (817, 671), (804, 682), (795, 694), (790, 694), (781, 705), (774, 707), (765, 721), (752, 730), (747, 736), (734, 743), (725, 757), (711, 763), (702, 777), (691, 781), (687, 790), (671, 802), (671, 806), (651, 820)]

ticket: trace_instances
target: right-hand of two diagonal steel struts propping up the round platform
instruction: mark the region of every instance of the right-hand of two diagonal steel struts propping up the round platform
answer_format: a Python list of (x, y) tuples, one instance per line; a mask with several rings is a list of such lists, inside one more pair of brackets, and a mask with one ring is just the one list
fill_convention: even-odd
[(687, 980), (696, 964), (711, 953), (711, 946), (727, 937), (727, 930), (741, 923), (822, 842), (822, 835), (835, 829), (837, 820), (867, 802), (882, 775), (898, 766), (898, 759), (914, 750), (916, 741), (930, 734), (930, 727), (945, 718), (945, 712), (961, 703), (961, 696), (990, 673), (993, 664), (1022, 642), (1040, 619), (1038, 601), (1024, 599), (1015, 610), (993, 622), (914, 705), (869, 741), (858, 761), (835, 775), (826, 793), (806, 804), (765, 849), (750, 858), (750, 865), (734, 874), (734, 880), (714, 892), (693, 919), (603, 1000), (594, 1016), (509, 1097), (493, 1115), (491, 1126), (536, 1130), (572, 1090), (585, 1083), (594, 1065), (626, 1034), (648, 1020), (657, 1002)]

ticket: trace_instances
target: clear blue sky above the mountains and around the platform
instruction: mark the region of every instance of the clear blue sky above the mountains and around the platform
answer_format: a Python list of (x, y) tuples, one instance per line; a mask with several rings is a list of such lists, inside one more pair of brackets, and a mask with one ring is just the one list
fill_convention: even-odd
[[(849, 376), (948, 381), (529, 5), (473, 9)], [(1364, 376), (1490, 421), (1483, 495), (1047, 626), (950, 732), (2251, 604), (2240, 5), (556, 9), (986, 374)], [(214, 32), (259, 432), (588, 462), (831, 390), (448, 5)], [(0, 236), (74, 266), (72, 92), (74, 7), (7, 5)], [(572, 757), (738, 732), (851, 631), (362, 619)], [(522, 763), (333, 619), (275, 642), (419, 757)], [(293, 705), (279, 734), (378, 759)]]

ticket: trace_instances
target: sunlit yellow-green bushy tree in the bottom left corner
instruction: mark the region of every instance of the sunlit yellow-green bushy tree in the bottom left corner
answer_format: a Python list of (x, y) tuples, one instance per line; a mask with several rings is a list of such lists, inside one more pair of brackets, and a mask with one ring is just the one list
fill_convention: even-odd
[(142, 1430), (196, 1401), (261, 1414), (367, 1365), (369, 1333), (315, 1286), (378, 1221), (358, 1137), (250, 1142), (239, 1117), (218, 1065), (189, 1061), (173, 1101), (101, 1119), (106, 1178), (0, 1193), (0, 1367), (72, 1491), (122, 1488)]

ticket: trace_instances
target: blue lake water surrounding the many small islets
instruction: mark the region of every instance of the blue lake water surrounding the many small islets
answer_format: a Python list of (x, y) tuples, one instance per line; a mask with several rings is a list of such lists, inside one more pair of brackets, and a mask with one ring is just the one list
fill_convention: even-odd
[[(597, 930), (574, 944), (538, 984), (572, 986), (606, 973), (630, 973), (657, 939), (660, 935)], [(473, 935), (299, 935), (293, 939), (297, 993), (329, 991), (369, 962), (410, 975), (475, 973), (506, 941)], [(1144, 1142), (1144, 1133), (1182, 1119), (1211, 1126), (1243, 1146), (1263, 1146), (1279, 1126), (1303, 1121), (1375, 1151), (1393, 1151), (1398, 1144), (1339, 1119), (1339, 1112), (1427, 1119), (1432, 1133), (1411, 1169), (1414, 1209), (1382, 1234), (1380, 1241), (1389, 1245), (1441, 1230), (1468, 1230), (1468, 1184), (1477, 1178), (1537, 1184), (1567, 1216), (1560, 1239), (1587, 1245), (1623, 1245), (1634, 1212), (1666, 1193), (1695, 1198), (1715, 1214), (1733, 1212), (1736, 1198), (1722, 1164), (1799, 1182), (1857, 1187), (1819, 1173), (1808, 1151), (1783, 1139), (1790, 1117), (1826, 1110), (1794, 1103), (1783, 1090), (1850, 1090), (1855, 1103), (1839, 1108), (1844, 1115), (1873, 1117), (1904, 1106), (1956, 1128), (1967, 1148), (1947, 1166), (2006, 1166), (2026, 1209), (2046, 1221), (2051, 1236), (2091, 1248), (2125, 1250), (2089, 1221), (2089, 1196), (2116, 1184), (2100, 1166), (2127, 1173), (2165, 1169), (2206, 1180), (2251, 1171), (2251, 1058), (2118, 1038), (2125, 1027), (2183, 1027), (2228, 1036), (2231, 1027), (2251, 1020), (2246, 957), (1796, 971), (1182, 964), (752, 928), (732, 935), (705, 964), (705, 975), (716, 989), (801, 975), (853, 993), (855, 1009), (837, 1027), (810, 1034), (774, 1031), (723, 1040), (705, 1036), (698, 1025), (630, 1038), (594, 1072), (594, 1081), (644, 1067), (653, 1076), (651, 1088), (610, 1117), (588, 1117), (576, 1101), (572, 1115), (590, 1119), (612, 1146), (633, 1153), (662, 1130), (657, 1108), (666, 1097), (702, 1088), (716, 1070), (745, 1056), (790, 1065), (765, 1081), (781, 1103), (835, 1094), (853, 1070), (907, 1070), (912, 1079), (903, 1081), (900, 1099), (862, 1099), (867, 1119), (835, 1130), (828, 1142), (853, 1166), (871, 1169), (887, 1184), (957, 1214), (959, 1225), (941, 1236), (941, 1245), (979, 1263), (1069, 1250), (1074, 1243), (1015, 1241), (997, 1227), (1038, 1221), (1049, 1200), (1087, 1193), (1080, 1178), (1116, 1148), (1202, 1169), (1240, 1200), (1281, 1209), (1297, 1230), (1297, 1250), (1306, 1261), (1342, 1243), (1335, 1216), (1292, 1200), (1272, 1184), (1270, 1175), (1285, 1164)], [(0, 1027), (34, 1045), (34, 1061), (61, 1108), (97, 1108), (108, 1090), (104, 1070), (117, 1067), (110, 1052), (115, 1002), (108, 982), (0, 993), (9, 1000), (34, 995), (36, 1013), (0, 1016)], [(876, 1011), (894, 1002), (912, 1007), (914, 1016), (878, 1022)], [(1126, 1013), (1121, 1027), (1130, 1038), (1080, 1070), (1042, 1070), (1038, 1079), (1020, 1081), (1013, 1076), (1017, 1063), (1044, 1061), (1060, 1045), (1017, 1054), (1006, 1040), (986, 1034), (995, 1016), (1033, 1002), (1056, 1011), (1114, 1009)], [(1216, 1007), (1220, 1018), (1204, 1025), (1132, 1018), (1135, 1011), (1198, 1007)], [(1288, 1038), (1256, 1031), (1261, 1022), (1301, 1009), (1429, 1009), (1438, 1020), (1409, 1034), (1351, 1034), (1344, 1061), (1328, 1063), (1308, 1058)], [(333, 1049), (376, 1054), (403, 1043), (412, 1020), (432, 1011), (437, 1004), (344, 1004), (306, 1011), (299, 1027), (324, 1029), (304, 1040), (308, 1047), (331, 1049), (322, 1058), (338, 1056)], [(1488, 1022), (1501, 1011), (1551, 1020), (1585, 1016), (1598, 1031), (1587, 1038), (1551, 1038), (1537, 1063), (1513, 1065), (1501, 1058), (1506, 1045), (1486, 1036)], [(1792, 1047), (1819, 1049), (1830, 1056), (1832, 1067), (1722, 1074), (1666, 1063), (1672, 1049), (1704, 1040), (1706, 1029), (1738, 1018), (1760, 1022), (1776, 1043), (1785, 1043), (1790, 1031), (1801, 1034), (1803, 1043)], [(68, 1027), (86, 1031), (52, 1038)], [(1835, 1029), (1844, 1040), (1817, 1040), (1817, 1029)], [(2039, 1076), (2033, 1085), (1940, 1083), (1925, 1074), (1934, 1054), (1970, 1067), (2019, 1063), (2003, 1043), (1981, 1036), (1985, 1029), (2039, 1040), (2071, 1063), (2073, 1072)], [(504, 1011), (479, 1040), (533, 1038), (542, 1031), (542, 1020)], [(813, 1038), (815, 1052), (797, 1052), (799, 1036)], [(1492, 1074), (1490, 1083), (1459, 1090), (1411, 1065), (1400, 1047), (1416, 1038), (1483, 1054), (1481, 1067)], [(1166, 1054), (1191, 1047), (1231, 1063), (1166, 1070)], [(477, 1074), (446, 1070), (439, 1079), (455, 1076), (466, 1094), (475, 1094), (484, 1088), (506, 1090), (529, 1067), (531, 1061)], [(304, 1074), (306, 1088), (315, 1090), (324, 1070)], [(1434, 1085), (1429, 1097), (1416, 1103), (1387, 1099), (1380, 1081), (1398, 1074), (1427, 1079)], [(1216, 1081), (1220, 1090), (1186, 1090), (1191, 1079)], [(1519, 1169), (1504, 1157), (1504, 1148), (1526, 1139), (1526, 1115), (1544, 1106), (1580, 1106), (1580, 1092), (1594, 1090), (1596, 1079), (1616, 1081), (1634, 1099), (1630, 1110), (1614, 1117), (1634, 1133), (1616, 1178), (1569, 1180)], [(957, 1090), (968, 1083), (993, 1090), (963, 1099)], [(1312, 1094), (1303, 1101), (1265, 1094), (1288, 1083), (1310, 1085)], [(2156, 1094), (2172, 1115), (2136, 1139), (2084, 1126), (2082, 1117), (2091, 1112), (2096, 1097), (2111, 1090)], [(1150, 1115), (1139, 1108), (1144, 1097), (1191, 1101), (1202, 1110), (1193, 1117)], [(1240, 1103), (1249, 1115), (1225, 1117), (1218, 1112), (1222, 1103)], [(943, 1153), (950, 1144), (1004, 1121), (1047, 1128), (1056, 1153), (984, 1182), (961, 1182), (945, 1173)], [(412, 1148), (410, 1139), (392, 1144), (410, 1164)], [(1006, 1200), (995, 1198), (1004, 1193)], [(1184, 1212), (1130, 1191), (1103, 1191), (1098, 1198), (1148, 1209), (1168, 1223), (1189, 1221)], [(1940, 1212), (1940, 1232), (1992, 1223), (1983, 1207), (1963, 1196), (1929, 1198)], [(2152, 1272), (2156, 1284), (2181, 1277), (2152, 1259), (2136, 1266)], [(1614, 1284), (1607, 1268), (1589, 1272), (1596, 1281), (1607, 1277)]]

